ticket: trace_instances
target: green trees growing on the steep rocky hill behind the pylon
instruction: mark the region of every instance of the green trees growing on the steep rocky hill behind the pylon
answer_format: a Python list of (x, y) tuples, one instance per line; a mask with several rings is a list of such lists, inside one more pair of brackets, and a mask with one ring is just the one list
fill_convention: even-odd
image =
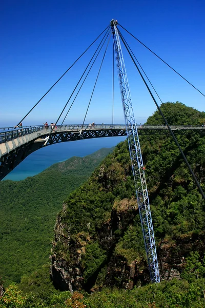
[[(167, 103), (162, 106), (162, 110), (170, 124), (201, 125), (204, 121), (204, 112), (178, 102), (176, 104)], [(147, 121), (147, 124), (161, 123), (158, 111)], [(204, 136), (193, 131), (186, 134), (176, 133), (176, 136), (204, 189)], [(197, 242), (201, 247), (199, 261), (202, 262), (205, 227), (204, 201), (178, 148), (169, 135), (161, 134), (141, 136), (140, 144), (146, 167), (156, 245), (159, 247), (159, 245), (167, 244), (168, 247), (172, 246), (173, 248), (170, 249), (173, 250), (178, 243), (183, 242), (182, 239), (190, 238), (192, 242)], [(100, 228), (110, 219), (112, 209), (120, 207), (121, 200), (126, 202), (126, 199), (133, 198), (135, 198), (135, 188), (126, 141), (118, 144), (90, 179), (66, 199), (67, 211), (66, 213), (62, 211), (59, 216), (61, 222), (71, 233), (70, 253), (62, 238), (53, 248), (55, 259), (67, 260), (68, 264), (73, 262), (70, 261), (74, 257), (73, 249), (78, 246), (80, 239), (84, 238), (84, 241), (87, 241), (86, 254), (81, 257), (80, 268), (83, 271), (86, 288), (89, 280), (92, 280), (94, 287), (104, 285), (107, 268), (110, 266), (110, 250), (100, 242)], [(142, 264), (146, 262), (146, 254), (139, 215), (136, 215), (134, 221), (125, 228), (121, 226), (116, 228), (114, 235), (113, 258), (125, 258), (128, 264), (138, 259), (139, 267), (143, 269), (145, 265)], [(180, 248), (178, 250), (180, 251)], [(179, 251), (175, 249), (173, 253), (179, 254)], [(185, 257), (188, 256), (185, 254)], [(98, 277), (93, 280), (93, 275), (98, 269), (100, 269)], [(121, 286), (120, 279), (116, 278), (112, 283)]]

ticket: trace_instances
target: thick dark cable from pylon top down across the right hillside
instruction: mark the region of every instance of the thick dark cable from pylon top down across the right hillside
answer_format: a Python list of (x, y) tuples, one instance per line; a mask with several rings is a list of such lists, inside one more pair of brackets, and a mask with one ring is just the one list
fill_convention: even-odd
[(187, 160), (187, 158), (186, 158), (186, 156), (185, 156), (185, 154), (183, 153), (183, 151), (182, 151), (182, 149), (181, 149), (181, 147), (180, 147), (180, 145), (179, 145), (179, 143), (178, 143), (178, 141), (177, 141), (177, 139), (176, 139), (176, 137), (175, 137), (173, 131), (171, 130), (171, 128), (170, 128), (170, 126), (169, 126), (169, 123), (167, 122), (167, 120), (166, 120), (166, 118), (165, 118), (165, 115), (163, 115), (163, 112), (161, 111), (159, 105), (157, 104), (157, 102), (156, 102), (156, 100), (155, 100), (155, 98), (154, 98), (154, 96), (153, 96), (153, 94), (152, 94), (152, 92), (151, 92), (151, 90), (150, 90), (150, 88), (149, 88), (147, 82), (145, 81), (144, 77), (142, 76), (142, 74), (141, 74), (141, 72), (140, 72), (140, 70), (139, 70), (139, 68), (138, 68), (138, 66), (137, 66), (137, 64), (136, 64), (136, 62), (135, 62), (135, 60), (134, 60), (132, 54), (130, 53), (130, 51), (129, 51), (127, 45), (126, 45), (126, 42), (124, 41), (124, 38), (120, 35), (120, 33), (119, 33), (119, 36), (120, 36), (122, 42), (124, 43), (124, 45), (125, 45), (125, 47), (126, 47), (128, 53), (129, 53), (129, 55), (131, 56), (131, 59), (132, 59), (134, 65), (136, 66), (136, 68), (137, 68), (137, 70), (138, 70), (138, 72), (139, 72), (139, 74), (140, 74), (140, 76), (141, 76), (141, 79), (144, 81), (144, 83), (145, 83), (145, 85), (146, 85), (146, 87), (147, 87), (147, 89), (148, 89), (148, 91), (149, 91), (149, 93), (150, 93), (150, 95), (151, 95), (151, 97), (152, 97), (152, 99), (153, 99), (155, 105), (157, 106), (157, 109), (159, 110), (159, 112), (160, 112), (160, 114), (161, 114), (163, 120), (165, 121), (165, 123), (166, 123), (166, 125), (167, 125), (167, 127), (168, 127), (168, 129), (169, 129), (169, 131), (170, 131), (170, 134), (171, 134), (172, 138), (174, 139), (174, 142), (175, 142), (175, 144), (177, 145), (177, 147), (178, 147), (178, 149), (179, 149), (179, 151), (180, 151), (180, 153), (181, 153), (181, 155), (182, 155), (183, 160), (185, 161), (186, 165), (188, 166), (188, 168), (189, 168), (189, 170), (190, 170), (190, 172), (191, 172), (191, 175), (192, 175), (192, 177), (193, 177), (193, 179), (194, 179), (194, 181), (195, 181), (195, 183), (196, 183), (196, 186), (198, 187), (198, 189), (199, 189), (199, 191), (200, 191), (200, 193), (201, 193), (203, 199), (205, 200), (204, 192), (203, 192), (203, 190), (202, 190), (202, 188), (201, 188), (201, 186), (200, 186), (200, 184), (199, 184), (199, 182), (198, 182), (198, 180), (197, 180), (197, 178), (196, 178), (196, 176), (195, 176), (195, 174), (194, 174), (194, 172), (193, 172), (193, 170), (192, 170), (192, 168), (191, 168), (191, 166), (190, 166), (190, 164), (189, 164), (189, 162), (188, 162), (188, 160)]

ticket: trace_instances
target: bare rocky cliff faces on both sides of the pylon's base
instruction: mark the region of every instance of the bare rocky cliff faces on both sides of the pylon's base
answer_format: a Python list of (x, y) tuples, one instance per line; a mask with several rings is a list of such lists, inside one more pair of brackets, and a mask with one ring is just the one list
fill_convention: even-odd
[[(67, 204), (63, 206), (66, 213)], [(97, 240), (100, 246), (106, 251), (105, 262), (90, 277), (89, 281), (84, 278), (84, 256), (88, 243), (92, 238), (88, 233), (78, 233), (75, 237), (70, 232), (65, 232), (65, 225), (57, 218), (55, 225), (55, 240), (53, 241), (53, 252), (57, 245), (64, 246), (67, 255), (61, 254), (56, 258), (54, 253), (51, 256), (51, 277), (56, 288), (62, 291), (86, 289), (94, 291), (101, 287), (118, 286), (125, 289), (132, 289), (134, 285), (141, 285), (150, 282), (147, 260), (140, 256), (131, 262), (124, 254), (116, 253), (115, 247), (120, 236), (125, 232), (133, 219), (139, 215), (136, 200), (124, 199), (115, 202), (111, 217), (97, 230)], [(116, 232), (119, 230), (119, 232)], [(204, 235), (187, 235), (177, 238), (174, 243), (162, 240), (157, 246), (158, 262), (161, 280), (181, 279), (180, 274), (185, 267), (185, 259), (192, 251), (205, 252)], [(100, 270), (104, 269), (104, 277), (100, 280)]]

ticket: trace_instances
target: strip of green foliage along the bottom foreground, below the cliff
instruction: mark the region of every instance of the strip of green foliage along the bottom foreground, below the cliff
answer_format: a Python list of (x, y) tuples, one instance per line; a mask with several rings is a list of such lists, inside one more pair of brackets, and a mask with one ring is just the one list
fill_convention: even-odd
[(162, 281), (133, 290), (103, 288), (101, 292), (59, 292), (49, 278), (48, 266), (24, 277), (19, 286), (10, 285), (1, 308), (203, 308), (205, 279)]

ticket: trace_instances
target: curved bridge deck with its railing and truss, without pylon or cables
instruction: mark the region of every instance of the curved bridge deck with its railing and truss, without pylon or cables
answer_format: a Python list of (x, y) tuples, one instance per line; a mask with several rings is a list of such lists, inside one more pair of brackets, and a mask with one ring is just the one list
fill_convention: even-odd
[[(166, 126), (137, 125), (139, 134), (169, 134)], [(205, 135), (205, 127), (171, 126), (173, 131), (196, 131)], [(125, 125), (58, 125), (48, 136), (51, 128), (31, 126), (22, 129), (0, 128), (0, 180), (22, 162), (30, 153), (54, 143), (81, 139), (127, 136)]]

